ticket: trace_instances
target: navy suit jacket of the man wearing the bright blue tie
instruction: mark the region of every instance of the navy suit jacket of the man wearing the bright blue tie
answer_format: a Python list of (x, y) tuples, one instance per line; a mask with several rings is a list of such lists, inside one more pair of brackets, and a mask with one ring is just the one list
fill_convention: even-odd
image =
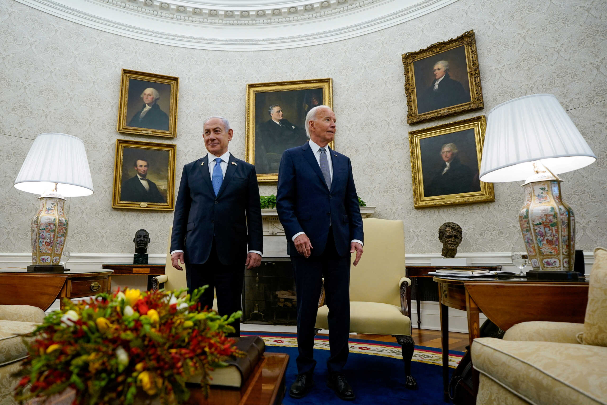
[(219, 261), (225, 265), (244, 266), (247, 251), (262, 251), (263, 247), (255, 166), (232, 154), (217, 197), (209, 155), (183, 166), (181, 174), (171, 251), (183, 250), (186, 264), (204, 264), (211, 254), (213, 237)]

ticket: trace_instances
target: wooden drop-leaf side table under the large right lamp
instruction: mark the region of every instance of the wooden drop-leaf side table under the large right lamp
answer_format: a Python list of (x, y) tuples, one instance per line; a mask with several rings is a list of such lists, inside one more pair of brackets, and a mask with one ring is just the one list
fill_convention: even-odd
[[(479, 313), (502, 330), (527, 321), (583, 323), (588, 303), (588, 282), (509, 280), (469, 277), (433, 277), (438, 283), (443, 347), (443, 392), (449, 402), (449, 308), (464, 310), (470, 344), (480, 337)], [(563, 303), (566, 302), (566, 305)], [(473, 372), (473, 395), (478, 390), (478, 372)]]

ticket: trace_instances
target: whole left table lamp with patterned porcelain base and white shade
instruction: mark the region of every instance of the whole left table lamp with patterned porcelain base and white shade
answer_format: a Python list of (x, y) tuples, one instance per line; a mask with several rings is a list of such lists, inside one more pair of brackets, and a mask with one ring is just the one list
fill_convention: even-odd
[(90, 196), (93, 180), (80, 138), (67, 134), (40, 134), (27, 152), (15, 188), (42, 194), (32, 219), (32, 265), (27, 271), (61, 273), (59, 264), (67, 238), (65, 197)]

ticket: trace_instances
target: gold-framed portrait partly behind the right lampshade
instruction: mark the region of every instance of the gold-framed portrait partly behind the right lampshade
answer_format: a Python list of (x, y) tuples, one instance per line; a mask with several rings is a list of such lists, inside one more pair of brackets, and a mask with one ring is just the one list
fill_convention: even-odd
[(415, 208), (495, 201), (478, 179), (486, 127), (480, 115), (409, 132)]

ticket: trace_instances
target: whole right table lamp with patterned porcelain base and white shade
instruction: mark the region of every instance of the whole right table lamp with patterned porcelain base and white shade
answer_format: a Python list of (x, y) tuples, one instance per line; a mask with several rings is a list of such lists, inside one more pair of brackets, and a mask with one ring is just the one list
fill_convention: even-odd
[(575, 218), (561, 197), (557, 174), (597, 160), (552, 94), (515, 98), (487, 117), (480, 180), (517, 182), (525, 202), (518, 214), (533, 267), (531, 279), (575, 279)]

